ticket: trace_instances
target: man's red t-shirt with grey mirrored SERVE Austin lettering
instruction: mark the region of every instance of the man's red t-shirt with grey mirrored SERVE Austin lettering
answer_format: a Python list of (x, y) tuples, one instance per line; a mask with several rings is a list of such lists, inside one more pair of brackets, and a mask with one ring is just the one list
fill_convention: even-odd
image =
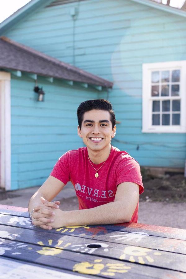
[[(103, 164), (94, 164), (96, 170)], [(114, 201), (117, 185), (134, 182), (143, 193), (143, 183), (138, 162), (127, 152), (112, 146), (110, 155), (95, 177), (95, 169), (88, 160), (86, 147), (70, 150), (56, 162), (50, 175), (67, 184), (71, 181), (79, 201), (79, 209), (87, 209)], [(139, 204), (139, 203), (138, 203)], [(130, 222), (138, 221), (138, 204)]]

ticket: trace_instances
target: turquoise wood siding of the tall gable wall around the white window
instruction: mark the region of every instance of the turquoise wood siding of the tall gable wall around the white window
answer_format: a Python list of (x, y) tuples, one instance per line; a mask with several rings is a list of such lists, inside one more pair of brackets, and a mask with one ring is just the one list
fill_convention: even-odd
[[(74, 24), (72, 7), (78, 9)], [(129, 152), (142, 166), (180, 168), (186, 157), (185, 134), (141, 132), (142, 64), (186, 60), (185, 21), (130, 0), (86, 0), (42, 8), (5, 35), (64, 62), (75, 61), (77, 67), (113, 81), (108, 98), (121, 121), (113, 145)], [(99, 93), (99, 97), (107, 95)], [(55, 129), (52, 127), (51, 135), (46, 135), (49, 141)], [(38, 139), (37, 135), (33, 138), (35, 142)], [(26, 135), (20, 135), (20, 139), (26, 140)]]

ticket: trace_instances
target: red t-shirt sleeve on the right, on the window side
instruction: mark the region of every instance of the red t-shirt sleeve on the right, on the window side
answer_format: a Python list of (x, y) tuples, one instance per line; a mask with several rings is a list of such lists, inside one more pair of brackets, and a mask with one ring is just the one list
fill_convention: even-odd
[(116, 168), (116, 181), (116, 185), (133, 182), (139, 185), (139, 194), (144, 192), (139, 163), (132, 157), (120, 159)]

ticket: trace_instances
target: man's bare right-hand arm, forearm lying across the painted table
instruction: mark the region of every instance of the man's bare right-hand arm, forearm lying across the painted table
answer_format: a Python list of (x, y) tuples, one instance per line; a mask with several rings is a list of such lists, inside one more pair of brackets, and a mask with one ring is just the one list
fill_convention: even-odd
[[(52, 228), (73, 225), (98, 225), (117, 224), (130, 222), (139, 200), (139, 185), (132, 182), (124, 182), (118, 185), (115, 200), (113, 202), (90, 209), (62, 211), (55, 210)], [(37, 221), (33, 224), (38, 225)]]

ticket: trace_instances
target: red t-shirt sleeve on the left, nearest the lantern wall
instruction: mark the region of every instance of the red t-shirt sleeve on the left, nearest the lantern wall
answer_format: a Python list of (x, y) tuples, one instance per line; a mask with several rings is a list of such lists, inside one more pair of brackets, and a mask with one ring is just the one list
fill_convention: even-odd
[(58, 159), (50, 175), (59, 179), (65, 185), (67, 184), (68, 181), (70, 181), (69, 152), (64, 153)]

